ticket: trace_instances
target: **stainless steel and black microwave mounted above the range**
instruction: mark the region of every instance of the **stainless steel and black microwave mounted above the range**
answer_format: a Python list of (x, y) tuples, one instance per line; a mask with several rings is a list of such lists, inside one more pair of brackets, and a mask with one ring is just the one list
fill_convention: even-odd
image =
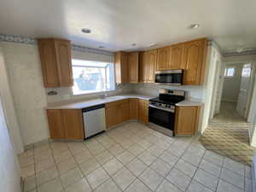
[(156, 84), (183, 84), (183, 69), (156, 71), (154, 73)]

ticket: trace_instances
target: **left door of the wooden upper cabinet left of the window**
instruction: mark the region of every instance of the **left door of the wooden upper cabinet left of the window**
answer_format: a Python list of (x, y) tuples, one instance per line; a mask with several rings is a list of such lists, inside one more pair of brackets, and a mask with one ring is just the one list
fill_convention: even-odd
[(50, 39), (38, 39), (38, 49), (45, 87), (60, 85), (59, 73), (55, 57), (55, 44)]

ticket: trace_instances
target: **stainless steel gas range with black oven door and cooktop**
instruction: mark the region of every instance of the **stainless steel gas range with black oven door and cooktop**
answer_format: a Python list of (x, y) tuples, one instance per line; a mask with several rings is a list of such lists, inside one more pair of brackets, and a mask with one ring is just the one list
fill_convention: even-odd
[(150, 99), (148, 121), (152, 129), (174, 136), (175, 105), (185, 99), (183, 90), (160, 89), (159, 96)]

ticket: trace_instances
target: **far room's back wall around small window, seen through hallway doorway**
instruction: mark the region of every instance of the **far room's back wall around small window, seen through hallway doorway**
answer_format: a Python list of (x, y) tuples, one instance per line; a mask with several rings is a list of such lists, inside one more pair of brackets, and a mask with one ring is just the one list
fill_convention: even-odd
[(232, 78), (224, 78), (224, 87), (222, 92), (222, 100), (227, 102), (237, 102), (241, 84), (241, 70), (245, 63), (229, 63), (225, 67), (235, 67), (235, 76)]

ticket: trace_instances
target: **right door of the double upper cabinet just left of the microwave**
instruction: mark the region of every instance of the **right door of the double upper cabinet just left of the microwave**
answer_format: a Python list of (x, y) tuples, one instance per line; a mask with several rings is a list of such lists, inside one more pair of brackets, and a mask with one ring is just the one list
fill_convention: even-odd
[(148, 51), (148, 83), (154, 83), (154, 71), (157, 61), (157, 50)]

